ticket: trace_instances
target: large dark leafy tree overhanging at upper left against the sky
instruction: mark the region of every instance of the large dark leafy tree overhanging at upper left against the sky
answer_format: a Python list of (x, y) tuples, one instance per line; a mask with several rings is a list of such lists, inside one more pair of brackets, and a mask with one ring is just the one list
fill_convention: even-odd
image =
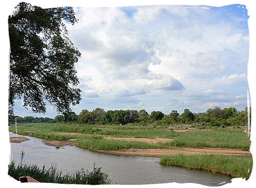
[(74, 63), (81, 54), (69, 40), (65, 22), (77, 22), (72, 7), (43, 9), (22, 2), (9, 16), (9, 114), (15, 99), (23, 99), (23, 106), (35, 113), (46, 112), (46, 101), (62, 114), (79, 104)]

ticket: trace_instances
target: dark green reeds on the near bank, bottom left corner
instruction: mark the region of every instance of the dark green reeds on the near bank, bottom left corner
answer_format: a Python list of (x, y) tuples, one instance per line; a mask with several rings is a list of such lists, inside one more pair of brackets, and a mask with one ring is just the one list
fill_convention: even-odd
[(12, 176), (16, 180), (19, 180), (21, 176), (31, 176), (37, 181), (46, 182), (46, 183), (65, 183), (65, 184), (90, 184), (90, 185), (99, 185), (99, 184), (109, 184), (110, 180), (108, 179), (108, 174), (104, 173), (101, 168), (95, 166), (93, 171), (89, 172), (88, 170), (76, 171), (74, 174), (62, 174), (57, 168), (57, 164), (53, 163), (51, 168), (46, 169), (46, 166), (39, 168), (36, 164), (26, 165), (22, 164), (22, 160), (25, 153), (21, 152), (20, 163), (15, 166), (15, 162), (11, 161), (8, 165), (8, 175)]

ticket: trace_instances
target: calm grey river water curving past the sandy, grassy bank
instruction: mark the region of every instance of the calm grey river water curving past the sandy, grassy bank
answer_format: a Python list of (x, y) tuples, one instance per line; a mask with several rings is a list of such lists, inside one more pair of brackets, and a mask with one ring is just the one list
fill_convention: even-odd
[[(9, 133), (10, 137), (16, 134)], [(18, 135), (23, 136), (23, 135)], [(47, 146), (35, 137), (24, 136), (30, 140), (21, 143), (11, 143), (10, 160), (16, 164), (20, 161), (20, 152), (25, 151), (23, 163), (46, 165), (50, 167), (53, 162), (63, 173), (74, 173), (82, 167), (92, 171), (94, 162), (108, 173), (112, 184), (155, 184), (155, 183), (198, 183), (207, 186), (220, 186), (231, 182), (226, 175), (210, 172), (190, 170), (180, 167), (165, 166), (159, 163), (159, 158), (121, 156), (102, 154), (75, 146), (55, 148)]]

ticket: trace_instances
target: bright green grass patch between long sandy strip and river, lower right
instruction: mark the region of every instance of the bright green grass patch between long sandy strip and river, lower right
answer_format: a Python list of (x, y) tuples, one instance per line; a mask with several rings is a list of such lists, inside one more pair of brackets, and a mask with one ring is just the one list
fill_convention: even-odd
[(249, 179), (252, 170), (252, 157), (236, 157), (232, 155), (182, 155), (162, 156), (161, 164), (207, 170), (213, 173), (230, 175), (233, 178)]

